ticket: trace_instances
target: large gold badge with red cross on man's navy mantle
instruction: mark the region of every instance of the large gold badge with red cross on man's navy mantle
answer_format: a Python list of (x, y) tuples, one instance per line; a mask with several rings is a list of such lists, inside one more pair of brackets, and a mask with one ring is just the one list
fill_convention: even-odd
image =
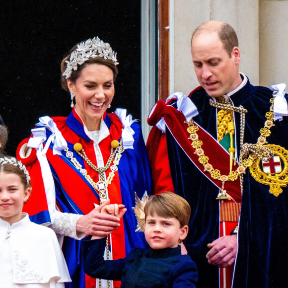
[(268, 161), (255, 159), (249, 167), (250, 174), (256, 181), (269, 185), (269, 192), (278, 197), (283, 192), (281, 187), (286, 187), (288, 183), (288, 150), (274, 144), (263, 146), (270, 148), (274, 157)]

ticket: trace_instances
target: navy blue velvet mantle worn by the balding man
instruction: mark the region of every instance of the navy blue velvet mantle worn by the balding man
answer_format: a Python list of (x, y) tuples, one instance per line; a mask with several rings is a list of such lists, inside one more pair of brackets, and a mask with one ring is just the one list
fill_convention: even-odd
[[(191, 93), (190, 98), (199, 111), (194, 120), (216, 139), (216, 108), (210, 106), (210, 97), (200, 88)], [(231, 96), (234, 106), (242, 105), (248, 110), (244, 143), (257, 143), (271, 98), (269, 88), (253, 86), (249, 80)], [(239, 157), (239, 113), (235, 113), (235, 123)], [(275, 123), (271, 128), (272, 135), (267, 138), (269, 144), (288, 148), (287, 124), (287, 117)], [(219, 236), (219, 213), (215, 200), (218, 189), (191, 163), (169, 131), (166, 134), (175, 191), (189, 202), (192, 209), (186, 246), (199, 270), (197, 287), (218, 287), (218, 269), (209, 265), (205, 257), (209, 251), (207, 244)], [(270, 194), (269, 188), (254, 180), (246, 171), (233, 288), (284, 287), (288, 283), (285, 265), (288, 259), (288, 188), (284, 187), (278, 197)]]

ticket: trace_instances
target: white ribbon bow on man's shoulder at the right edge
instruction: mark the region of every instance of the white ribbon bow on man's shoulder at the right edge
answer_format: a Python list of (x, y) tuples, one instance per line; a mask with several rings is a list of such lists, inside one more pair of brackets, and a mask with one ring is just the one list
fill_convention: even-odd
[(286, 84), (276, 84), (270, 86), (270, 89), (276, 92), (276, 96), (274, 97), (274, 121), (279, 120), (282, 121), (283, 116), (288, 116), (288, 107), (287, 101), (285, 98), (286, 93)]

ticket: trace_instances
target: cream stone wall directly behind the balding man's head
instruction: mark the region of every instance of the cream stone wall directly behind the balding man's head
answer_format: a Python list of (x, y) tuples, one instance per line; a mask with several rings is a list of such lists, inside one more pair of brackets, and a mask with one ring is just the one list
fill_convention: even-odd
[[(188, 94), (192, 89), (198, 86), (198, 81), (194, 72), (191, 52), (190, 41), (193, 30), (201, 23), (209, 20), (221, 20), (229, 23), (236, 31), (239, 40), (239, 49), (241, 52), (240, 71), (245, 73), (251, 83), (258, 85), (262, 83), (259, 80), (259, 23), (262, 26), (267, 26), (270, 23), (269, 19), (259, 21), (258, 15), (264, 17), (265, 6), (268, 13), (270, 7), (266, 3), (261, 2), (274, 2), (274, 5), (280, 5), (278, 2), (288, 1), (277, 0), (170, 0), (173, 1), (174, 6), (174, 37), (170, 41), (174, 42), (174, 63), (171, 63), (171, 68), (174, 72), (174, 91), (170, 93), (181, 91)], [(273, 5), (273, 3), (272, 3)], [(268, 6), (268, 7), (267, 7)], [(261, 13), (259, 13), (261, 7)], [(281, 10), (281, 7), (279, 7)], [(286, 11), (288, 9), (286, 8)], [(285, 11), (282, 11), (283, 17)], [(265, 14), (266, 16), (266, 14)], [(277, 20), (275, 20), (277, 21)], [(264, 23), (263, 23), (264, 22)], [(262, 24), (263, 23), (263, 24)], [(269, 24), (270, 25), (270, 24)], [(279, 24), (275, 24), (277, 26)], [(287, 25), (288, 27), (288, 25)], [(264, 30), (264, 27), (261, 28)], [(272, 29), (272, 28), (271, 28)], [(274, 28), (276, 29), (276, 28)], [(261, 37), (261, 43), (267, 42), (267, 39)], [(273, 47), (267, 48), (265, 53), (271, 55)], [(284, 50), (284, 47), (278, 47)], [(264, 52), (263, 52), (264, 55)], [(260, 59), (262, 59), (262, 56)], [(278, 56), (276, 56), (278, 57)], [(269, 58), (269, 57), (268, 57)], [(269, 63), (270, 59), (266, 59), (265, 63)], [(264, 61), (262, 60), (264, 63)], [(262, 68), (262, 65), (261, 65)], [(266, 69), (267, 71), (268, 69)], [(270, 78), (266, 75), (267, 72), (261, 73), (261, 77)]]

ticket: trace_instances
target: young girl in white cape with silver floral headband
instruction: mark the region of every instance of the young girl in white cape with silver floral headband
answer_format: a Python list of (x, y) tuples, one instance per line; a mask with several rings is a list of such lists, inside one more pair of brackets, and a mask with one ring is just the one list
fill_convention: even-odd
[(71, 279), (55, 232), (22, 213), (30, 193), (25, 166), (0, 158), (0, 288), (64, 288)]

